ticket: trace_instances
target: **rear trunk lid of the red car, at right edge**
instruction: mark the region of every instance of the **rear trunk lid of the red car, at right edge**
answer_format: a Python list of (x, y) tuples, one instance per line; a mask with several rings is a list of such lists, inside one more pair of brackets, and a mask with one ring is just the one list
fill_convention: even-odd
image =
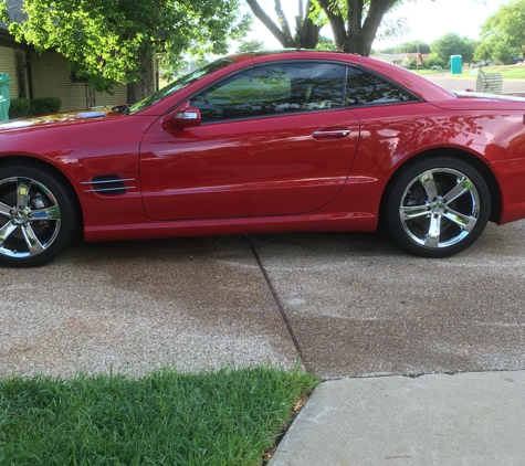
[(432, 104), (447, 110), (525, 110), (524, 97), (456, 91), (454, 94), (458, 98)]

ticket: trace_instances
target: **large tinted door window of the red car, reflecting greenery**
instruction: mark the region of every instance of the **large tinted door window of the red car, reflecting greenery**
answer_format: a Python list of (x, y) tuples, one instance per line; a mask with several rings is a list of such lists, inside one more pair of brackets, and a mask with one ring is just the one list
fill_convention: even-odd
[(343, 106), (345, 67), (283, 63), (254, 67), (191, 99), (203, 121)]

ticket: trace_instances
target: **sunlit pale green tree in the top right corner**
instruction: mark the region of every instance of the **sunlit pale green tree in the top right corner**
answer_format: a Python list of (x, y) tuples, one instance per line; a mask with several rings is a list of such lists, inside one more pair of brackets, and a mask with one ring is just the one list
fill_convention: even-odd
[(506, 62), (515, 51), (525, 56), (524, 23), (525, 0), (501, 6), (481, 27), (482, 39), (475, 59)]

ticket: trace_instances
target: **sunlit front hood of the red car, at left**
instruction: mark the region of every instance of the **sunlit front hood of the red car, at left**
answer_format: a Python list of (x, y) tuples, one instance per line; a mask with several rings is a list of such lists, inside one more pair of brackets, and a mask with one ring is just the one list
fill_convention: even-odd
[(106, 120), (108, 118), (122, 118), (123, 115), (114, 112), (111, 107), (90, 108), (87, 110), (67, 112), (60, 114), (42, 115), (30, 118), (13, 119), (0, 124), (0, 133), (14, 131), (19, 129), (31, 129), (42, 127), (55, 127), (64, 125), (76, 125)]

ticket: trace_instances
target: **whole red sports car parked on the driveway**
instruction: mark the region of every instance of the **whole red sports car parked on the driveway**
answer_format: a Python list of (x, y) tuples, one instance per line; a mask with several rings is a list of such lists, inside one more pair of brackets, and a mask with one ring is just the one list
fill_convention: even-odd
[(525, 99), (336, 52), (220, 59), (113, 109), (0, 126), (0, 264), (86, 241), (375, 231), (443, 257), (525, 218)]

